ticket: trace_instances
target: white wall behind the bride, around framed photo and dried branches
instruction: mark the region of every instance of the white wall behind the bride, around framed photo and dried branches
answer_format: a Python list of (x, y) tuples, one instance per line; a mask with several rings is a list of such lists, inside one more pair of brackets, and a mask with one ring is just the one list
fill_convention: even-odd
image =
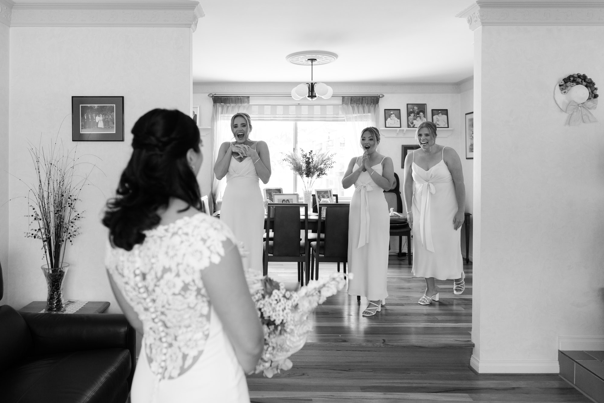
[[(11, 28), (9, 171), (32, 182), (28, 140), (37, 143), (41, 136), (47, 144), (66, 116), (59, 139), (98, 165), (90, 177), (94, 186), (85, 188), (79, 203), (82, 235), (65, 257), (71, 263), (66, 298), (110, 301), (109, 312), (120, 312), (103, 266), (107, 237), (100, 212), (129, 159), (138, 117), (153, 108), (190, 110), (190, 42), (190, 28)], [(124, 142), (71, 142), (71, 96), (85, 95), (124, 96)], [(10, 197), (27, 194), (18, 179), (9, 183)], [(23, 237), (27, 203), (14, 200), (10, 208), (8, 303), (20, 308), (45, 300), (44, 262), (39, 241)]]

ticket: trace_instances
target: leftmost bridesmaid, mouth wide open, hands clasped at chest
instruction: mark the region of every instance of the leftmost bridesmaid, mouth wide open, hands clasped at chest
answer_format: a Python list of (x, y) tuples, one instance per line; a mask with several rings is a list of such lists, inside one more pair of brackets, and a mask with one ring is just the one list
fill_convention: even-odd
[(262, 233), (264, 201), (258, 179), (271, 179), (271, 156), (266, 142), (249, 140), (252, 122), (246, 113), (231, 117), (234, 142), (220, 145), (214, 175), (220, 180), (226, 175), (222, 195), (220, 221), (225, 223), (246, 251), (248, 267), (262, 273)]

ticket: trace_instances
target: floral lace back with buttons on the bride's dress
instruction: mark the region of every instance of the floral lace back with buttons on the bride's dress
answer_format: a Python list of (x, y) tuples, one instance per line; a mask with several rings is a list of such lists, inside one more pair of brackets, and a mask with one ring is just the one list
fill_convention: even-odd
[(106, 267), (144, 326), (144, 351), (159, 379), (187, 372), (210, 333), (210, 301), (201, 270), (236, 244), (230, 229), (206, 214), (146, 231), (132, 251), (108, 246)]

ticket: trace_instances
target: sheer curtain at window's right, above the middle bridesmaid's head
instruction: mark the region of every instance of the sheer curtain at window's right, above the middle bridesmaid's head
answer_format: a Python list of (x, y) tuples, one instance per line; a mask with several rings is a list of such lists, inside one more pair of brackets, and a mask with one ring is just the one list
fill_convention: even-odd
[(378, 105), (379, 97), (342, 97), (342, 112), (350, 133), (350, 141), (346, 144), (347, 148), (350, 145), (351, 149), (347, 151), (352, 156), (362, 154), (359, 145), (361, 130), (369, 126), (377, 127)]

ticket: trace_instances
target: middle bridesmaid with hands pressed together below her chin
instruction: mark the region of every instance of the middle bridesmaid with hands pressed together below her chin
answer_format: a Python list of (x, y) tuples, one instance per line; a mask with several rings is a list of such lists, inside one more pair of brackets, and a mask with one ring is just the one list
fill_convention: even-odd
[(363, 129), (363, 155), (350, 160), (342, 179), (344, 189), (355, 185), (349, 216), (348, 264), (353, 277), (348, 293), (369, 300), (363, 316), (375, 315), (381, 310), (382, 300), (388, 297), (390, 216), (384, 190), (394, 187), (394, 166), (390, 157), (376, 151), (379, 139), (377, 128)]

